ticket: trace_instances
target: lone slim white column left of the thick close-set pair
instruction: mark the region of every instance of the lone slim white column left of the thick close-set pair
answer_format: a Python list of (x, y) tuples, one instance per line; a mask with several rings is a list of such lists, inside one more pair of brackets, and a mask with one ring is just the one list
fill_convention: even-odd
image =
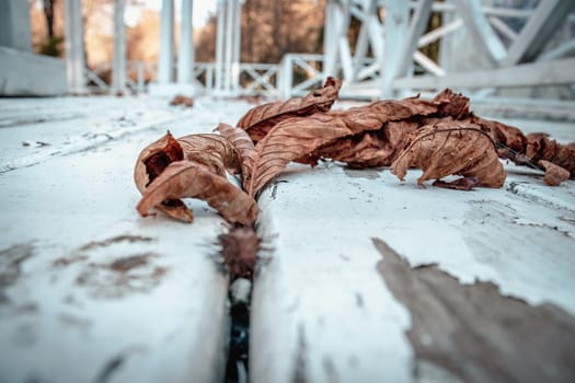
[(126, 92), (126, 27), (124, 25), (125, 0), (114, 4), (114, 61), (112, 62), (112, 91)]

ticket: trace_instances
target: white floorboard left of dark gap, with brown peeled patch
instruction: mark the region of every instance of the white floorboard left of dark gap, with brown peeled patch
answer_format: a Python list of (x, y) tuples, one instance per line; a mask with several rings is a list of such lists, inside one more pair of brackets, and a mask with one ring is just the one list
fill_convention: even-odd
[[(78, 132), (113, 137), (0, 174), (0, 381), (221, 380), (228, 277), (212, 256), (223, 220), (197, 200), (189, 201), (193, 224), (142, 219), (133, 181), (140, 150), (165, 129), (185, 135), (217, 125), (221, 115), (205, 116), (199, 105), (196, 117), (153, 113), (170, 116), (169, 125), (150, 126), (143, 113), (120, 138), (118, 125), (78, 119), (85, 125)], [(242, 107), (221, 112), (239, 118)], [(59, 124), (46, 126), (65, 137), (70, 125)], [(14, 156), (26, 155), (11, 137), (18, 132), (0, 129), (3, 162), (12, 160), (3, 150), (10, 142)]]

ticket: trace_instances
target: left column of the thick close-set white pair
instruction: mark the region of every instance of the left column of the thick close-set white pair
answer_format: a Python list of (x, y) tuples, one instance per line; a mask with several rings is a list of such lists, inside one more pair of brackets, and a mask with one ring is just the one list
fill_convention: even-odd
[(174, 2), (162, 0), (162, 16), (160, 21), (160, 57), (158, 59), (158, 83), (168, 84), (173, 81), (174, 45)]

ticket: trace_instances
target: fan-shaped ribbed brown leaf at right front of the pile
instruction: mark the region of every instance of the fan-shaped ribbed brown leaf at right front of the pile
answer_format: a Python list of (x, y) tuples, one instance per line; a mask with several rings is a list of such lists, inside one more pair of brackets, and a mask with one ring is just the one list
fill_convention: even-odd
[(502, 187), (505, 182), (495, 146), (476, 125), (438, 123), (419, 128), (391, 164), (391, 173), (403, 181), (410, 166), (424, 170), (419, 185), (450, 174), (475, 177), (486, 187)]

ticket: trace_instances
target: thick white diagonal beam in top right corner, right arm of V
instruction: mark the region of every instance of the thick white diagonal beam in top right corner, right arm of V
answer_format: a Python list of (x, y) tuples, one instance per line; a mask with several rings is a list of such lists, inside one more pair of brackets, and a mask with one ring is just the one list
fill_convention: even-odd
[(509, 48), (502, 65), (513, 66), (533, 60), (563, 24), (574, 5), (573, 0), (541, 1)]

